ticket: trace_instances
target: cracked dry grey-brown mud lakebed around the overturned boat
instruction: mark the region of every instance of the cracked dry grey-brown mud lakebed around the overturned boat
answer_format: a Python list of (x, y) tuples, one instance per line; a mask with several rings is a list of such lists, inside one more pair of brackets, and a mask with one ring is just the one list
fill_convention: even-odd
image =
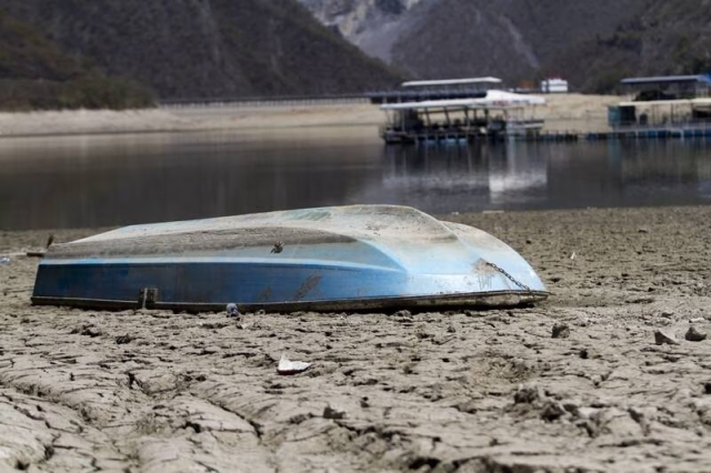
[[(0, 471), (709, 471), (711, 341), (684, 333), (711, 330), (710, 217), (450, 217), (509, 242), (553, 292), (485, 312), (33, 308), (37, 260), (13, 258)], [(0, 253), (47, 235), (0, 233)], [(679, 344), (657, 344), (659, 330)], [(282, 353), (314, 364), (279, 376)]]

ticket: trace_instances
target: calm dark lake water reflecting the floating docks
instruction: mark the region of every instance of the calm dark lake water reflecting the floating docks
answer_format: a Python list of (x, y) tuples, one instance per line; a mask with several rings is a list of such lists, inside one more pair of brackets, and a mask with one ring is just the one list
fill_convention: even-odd
[(711, 142), (384, 147), (372, 128), (0, 140), (0, 230), (350, 203), (431, 213), (711, 201)]

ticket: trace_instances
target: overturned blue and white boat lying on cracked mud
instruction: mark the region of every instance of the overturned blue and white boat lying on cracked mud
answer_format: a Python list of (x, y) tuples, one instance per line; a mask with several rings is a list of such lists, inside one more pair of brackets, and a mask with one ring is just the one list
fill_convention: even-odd
[(50, 246), (32, 303), (341, 311), (515, 305), (545, 288), (510, 246), (408, 207), (133, 225)]

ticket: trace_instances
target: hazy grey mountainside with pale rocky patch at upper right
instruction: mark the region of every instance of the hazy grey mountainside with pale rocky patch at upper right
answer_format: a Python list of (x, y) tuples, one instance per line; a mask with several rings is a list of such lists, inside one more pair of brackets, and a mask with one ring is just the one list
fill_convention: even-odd
[(419, 78), (562, 76), (609, 91), (625, 74), (708, 69), (711, 2), (300, 0), (371, 56)]

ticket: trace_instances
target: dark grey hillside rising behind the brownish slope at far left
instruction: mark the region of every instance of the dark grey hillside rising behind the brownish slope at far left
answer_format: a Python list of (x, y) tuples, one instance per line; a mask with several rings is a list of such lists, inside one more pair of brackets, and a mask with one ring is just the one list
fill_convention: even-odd
[(0, 8), (62, 53), (160, 98), (346, 93), (401, 79), (296, 0), (2, 0)]

